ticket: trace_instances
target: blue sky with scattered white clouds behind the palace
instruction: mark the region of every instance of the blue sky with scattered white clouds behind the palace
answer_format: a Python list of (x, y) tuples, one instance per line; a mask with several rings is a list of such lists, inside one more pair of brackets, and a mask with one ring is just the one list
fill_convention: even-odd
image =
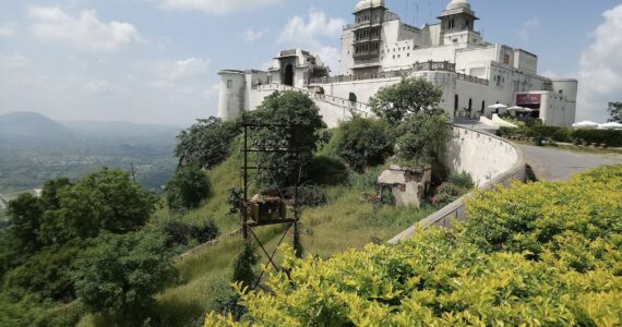
[[(0, 1), (0, 113), (187, 125), (217, 112), (220, 69), (265, 66), (280, 49), (338, 71), (342, 25), (357, 0)], [(448, 0), (386, 0), (414, 25)], [(539, 56), (579, 80), (578, 119), (622, 101), (619, 0), (471, 0), (486, 39)]]

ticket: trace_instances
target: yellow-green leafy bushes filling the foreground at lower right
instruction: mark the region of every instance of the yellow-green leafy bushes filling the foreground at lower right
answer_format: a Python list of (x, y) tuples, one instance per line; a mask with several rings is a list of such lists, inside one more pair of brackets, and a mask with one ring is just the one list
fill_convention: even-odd
[(620, 326), (621, 177), (606, 167), (479, 194), (467, 226), (395, 246), (302, 261), (285, 247), (291, 281), (238, 287), (248, 316), (205, 326)]

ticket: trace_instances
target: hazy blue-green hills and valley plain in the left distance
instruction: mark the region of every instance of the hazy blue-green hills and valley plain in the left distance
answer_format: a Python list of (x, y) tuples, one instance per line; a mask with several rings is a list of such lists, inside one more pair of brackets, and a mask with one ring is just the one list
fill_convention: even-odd
[(0, 114), (0, 193), (79, 178), (103, 166), (137, 168), (139, 181), (160, 190), (175, 170), (182, 128), (130, 122), (55, 121), (37, 112)]

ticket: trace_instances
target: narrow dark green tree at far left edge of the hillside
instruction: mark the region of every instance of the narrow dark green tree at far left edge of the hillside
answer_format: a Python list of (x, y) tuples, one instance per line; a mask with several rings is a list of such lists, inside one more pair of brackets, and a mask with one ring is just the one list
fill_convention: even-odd
[(44, 211), (41, 201), (31, 193), (22, 193), (9, 202), (9, 231), (27, 253), (37, 251), (41, 245), (37, 235)]

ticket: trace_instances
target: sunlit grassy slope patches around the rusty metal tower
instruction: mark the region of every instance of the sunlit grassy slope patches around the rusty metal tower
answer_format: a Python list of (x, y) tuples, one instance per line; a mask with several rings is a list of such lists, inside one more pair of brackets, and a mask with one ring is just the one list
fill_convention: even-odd
[[(238, 227), (238, 215), (228, 215), (227, 191), (239, 186), (240, 162), (229, 158), (210, 173), (214, 194), (201, 208), (188, 214), (184, 219), (205, 221), (213, 219), (223, 233)], [(326, 189), (328, 204), (307, 208), (301, 213), (302, 244), (307, 255), (330, 256), (348, 249), (361, 249), (375, 241), (386, 241), (433, 209), (375, 208), (364, 203), (364, 186), (330, 186)], [(162, 210), (156, 219), (164, 219)], [(259, 237), (272, 251), (280, 238), (283, 227), (265, 227), (258, 230)], [(291, 232), (286, 241), (291, 242)], [(227, 289), (234, 261), (241, 250), (239, 237), (226, 237), (213, 246), (205, 247), (183, 259), (177, 267), (180, 282), (158, 296), (158, 312), (168, 326), (202, 325), (204, 314), (216, 307), (215, 300)], [(258, 251), (259, 253), (259, 251)], [(266, 259), (262, 256), (262, 263)], [(104, 317), (85, 317), (79, 326), (110, 325)]]

